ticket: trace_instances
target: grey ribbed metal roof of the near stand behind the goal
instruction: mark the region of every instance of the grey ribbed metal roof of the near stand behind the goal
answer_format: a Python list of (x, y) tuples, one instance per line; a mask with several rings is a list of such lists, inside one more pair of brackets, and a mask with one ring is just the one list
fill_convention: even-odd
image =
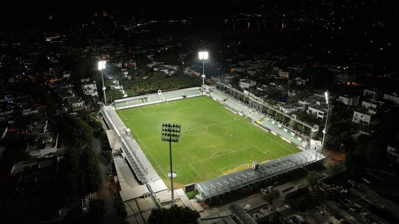
[(314, 149), (308, 149), (299, 153), (284, 156), (259, 165), (259, 169), (251, 168), (217, 177), (196, 184), (196, 189), (202, 194), (204, 200), (220, 194), (243, 188), (252, 183), (269, 179), (281, 173), (298, 169), (326, 158), (322, 153)]

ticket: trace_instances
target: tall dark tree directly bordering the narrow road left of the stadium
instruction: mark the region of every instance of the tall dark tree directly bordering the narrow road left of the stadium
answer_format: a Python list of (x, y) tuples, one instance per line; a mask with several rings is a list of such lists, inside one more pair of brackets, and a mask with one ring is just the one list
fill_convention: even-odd
[[(100, 169), (100, 162), (96, 153), (90, 147), (85, 148), (84, 152), (85, 174), (87, 178), (86, 188), (87, 193), (95, 193), (103, 188), (103, 178)], [(82, 166), (83, 167), (83, 166)]]

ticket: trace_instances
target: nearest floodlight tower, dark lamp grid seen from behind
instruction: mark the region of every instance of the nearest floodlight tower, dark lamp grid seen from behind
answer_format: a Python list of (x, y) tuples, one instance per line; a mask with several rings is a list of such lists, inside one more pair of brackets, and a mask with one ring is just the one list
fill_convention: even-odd
[(170, 152), (170, 183), (172, 185), (172, 204), (174, 203), (174, 187), (173, 178), (176, 177), (176, 173), (173, 172), (172, 166), (172, 142), (179, 142), (180, 138), (180, 124), (162, 124), (161, 141), (169, 141), (169, 152)]

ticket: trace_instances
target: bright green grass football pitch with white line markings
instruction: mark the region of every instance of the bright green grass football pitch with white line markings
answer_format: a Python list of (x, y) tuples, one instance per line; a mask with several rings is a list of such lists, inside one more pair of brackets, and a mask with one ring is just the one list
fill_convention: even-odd
[(166, 183), (169, 143), (161, 141), (162, 123), (182, 125), (180, 141), (172, 142), (178, 187), (232, 173), (237, 166), (251, 167), (255, 160), (262, 163), (300, 151), (206, 96), (117, 110), (117, 114)]

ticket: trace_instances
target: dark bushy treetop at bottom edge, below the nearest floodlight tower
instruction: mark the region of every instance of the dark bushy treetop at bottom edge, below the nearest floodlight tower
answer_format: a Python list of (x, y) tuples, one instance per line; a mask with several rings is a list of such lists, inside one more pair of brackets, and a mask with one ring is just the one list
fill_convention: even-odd
[(148, 224), (197, 224), (199, 217), (196, 210), (173, 204), (170, 208), (152, 209)]

